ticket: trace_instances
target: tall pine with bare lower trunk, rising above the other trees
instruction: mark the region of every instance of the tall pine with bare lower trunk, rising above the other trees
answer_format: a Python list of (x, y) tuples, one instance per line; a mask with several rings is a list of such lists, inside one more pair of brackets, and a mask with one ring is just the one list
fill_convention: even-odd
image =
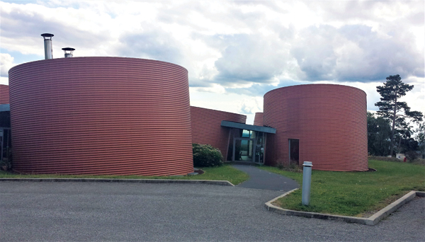
[(413, 85), (403, 83), (399, 75), (388, 76), (384, 86), (377, 86), (376, 89), (380, 93), (380, 102), (375, 103), (378, 106), (378, 115), (385, 117), (392, 122), (390, 136), (390, 155), (394, 150), (394, 138), (396, 129), (405, 127), (406, 118), (414, 121), (422, 120), (422, 113), (411, 111), (406, 102), (400, 102), (399, 99), (405, 96), (408, 91), (414, 88)]

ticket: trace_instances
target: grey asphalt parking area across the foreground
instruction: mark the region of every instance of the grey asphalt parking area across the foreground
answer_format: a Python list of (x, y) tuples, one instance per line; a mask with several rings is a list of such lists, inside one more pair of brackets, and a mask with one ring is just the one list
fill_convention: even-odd
[(425, 199), (376, 226), (266, 211), (274, 190), (198, 184), (0, 183), (0, 241), (423, 241)]

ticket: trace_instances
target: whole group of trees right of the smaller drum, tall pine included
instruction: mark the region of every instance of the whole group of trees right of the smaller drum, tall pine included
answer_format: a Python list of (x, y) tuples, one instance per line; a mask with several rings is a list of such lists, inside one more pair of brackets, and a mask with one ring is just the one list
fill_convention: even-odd
[[(425, 156), (425, 122), (423, 114), (413, 111), (402, 96), (413, 85), (402, 82), (399, 75), (388, 76), (383, 86), (377, 86), (379, 110), (368, 112), (368, 153), (373, 156), (395, 156), (404, 153), (409, 159)], [(414, 127), (416, 124), (416, 128)]]

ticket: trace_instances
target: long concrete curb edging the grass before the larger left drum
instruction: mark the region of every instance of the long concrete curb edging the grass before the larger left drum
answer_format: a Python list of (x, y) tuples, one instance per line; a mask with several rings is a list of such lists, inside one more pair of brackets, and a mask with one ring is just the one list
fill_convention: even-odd
[(227, 180), (108, 179), (108, 178), (0, 178), (20, 182), (94, 182), (94, 183), (184, 183), (234, 186)]

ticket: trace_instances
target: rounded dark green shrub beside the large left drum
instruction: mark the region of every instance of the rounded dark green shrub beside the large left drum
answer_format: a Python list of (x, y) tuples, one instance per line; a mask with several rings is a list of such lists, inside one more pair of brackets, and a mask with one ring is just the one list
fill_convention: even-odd
[(223, 156), (220, 150), (209, 144), (192, 144), (192, 150), (193, 166), (209, 167), (223, 164)]

